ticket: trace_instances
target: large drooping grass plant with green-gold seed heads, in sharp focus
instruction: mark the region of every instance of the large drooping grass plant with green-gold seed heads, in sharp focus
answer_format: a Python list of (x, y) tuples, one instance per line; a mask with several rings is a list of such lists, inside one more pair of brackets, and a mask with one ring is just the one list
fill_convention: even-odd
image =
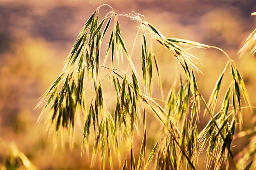
[[(46, 120), (47, 130), (53, 139), (61, 139), (63, 144), (68, 141), (72, 148), (76, 119), (84, 119), (81, 157), (88, 157), (92, 145), (91, 168), (95, 168), (95, 162), (99, 161), (100, 168), (105, 169), (108, 160), (110, 168), (114, 169), (115, 155), (123, 170), (195, 170), (199, 154), (205, 154), (206, 170), (219, 170), (223, 164), (228, 169), (230, 161), (241, 169), (243, 163), (237, 162), (232, 153), (232, 139), (243, 125), (242, 100), (247, 106), (250, 102), (234, 61), (223, 51), (227, 55), (227, 64), (207, 102), (196, 82), (195, 71), (200, 72), (196, 66), (198, 58), (188, 49), (217, 47), (167, 38), (139, 13), (118, 14), (108, 6), (111, 11), (101, 19), (99, 11), (103, 6), (108, 5), (97, 8), (83, 26), (61, 75), (38, 104), (38, 107), (45, 105), (38, 120)], [(140, 70), (135, 69), (132, 50), (128, 51), (122, 38), (119, 17), (131, 19), (139, 25), (136, 38), (141, 38), (141, 53), (136, 58), (141, 58)], [(162, 91), (153, 40), (170, 51), (170, 57), (177, 59), (182, 71), (166, 100), (153, 98), (153, 75)], [(253, 51), (255, 53), (255, 48)], [(117, 69), (120, 62), (128, 63), (124, 70)], [(225, 74), (231, 77), (231, 81), (224, 99), (219, 99), (222, 100), (220, 110), (216, 110)], [(143, 86), (139, 84), (139, 75), (142, 75)], [(108, 85), (103, 86), (104, 82)], [(85, 93), (87, 89), (92, 95)], [(113, 107), (109, 106), (108, 93), (115, 97)], [(154, 132), (162, 134), (156, 139), (150, 154), (146, 155), (148, 114), (155, 116), (163, 130)], [(201, 132), (198, 131), (199, 114), (210, 117)], [(143, 138), (139, 157), (135, 160), (134, 150), (137, 148), (132, 144), (135, 133), (139, 132)], [(126, 144), (128, 159), (121, 159), (120, 144)], [(255, 140), (250, 146), (255, 149)], [(251, 155), (249, 157), (252, 158)]]

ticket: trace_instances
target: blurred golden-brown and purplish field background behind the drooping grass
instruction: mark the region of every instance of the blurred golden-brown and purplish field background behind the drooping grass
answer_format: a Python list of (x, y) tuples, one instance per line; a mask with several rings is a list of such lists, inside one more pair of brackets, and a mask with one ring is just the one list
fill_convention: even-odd
[[(16, 142), (18, 148), (39, 169), (86, 170), (90, 167), (90, 159), (81, 160), (80, 157), (82, 133), (76, 133), (77, 141), (72, 152), (68, 149), (57, 149), (54, 152), (43, 124), (35, 126), (42, 108), (33, 109), (38, 98), (61, 72), (65, 58), (88, 17), (97, 6), (104, 3), (110, 4), (117, 13), (141, 13), (148, 18), (147, 22), (157, 27), (166, 37), (193, 40), (218, 46), (226, 51), (235, 60), (247, 86), (252, 106), (256, 106), (256, 57), (246, 54), (238, 58), (237, 55), (256, 27), (256, 17), (250, 16), (256, 11), (255, 0), (90, 2), (0, 0), (0, 138)], [(104, 8), (102, 12), (108, 11), (108, 8)], [(121, 19), (120, 26), (130, 48), (129, 44), (134, 41), (138, 25), (132, 20)], [(170, 59), (170, 53), (164, 48), (156, 48), (166, 97), (177, 73), (177, 62)], [(227, 58), (216, 49), (196, 49), (193, 54), (201, 59), (198, 68), (204, 74), (197, 73), (198, 86), (202, 95), (208, 99)], [(226, 78), (229, 79), (228, 75)], [(222, 98), (225, 89), (224, 85), (220, 94)], [(243, 110), (243, 130), (255, 126), (252, 122), (255, 112), (255, 109), (254, 113), (249, 109)], [(202, 117), (200, 126), (203, 127), (208, 121), (209, 118)], [(149, 138), (150, 135), (154, 134), (148, 134)], [(135, 141), (135, 148), (140, 146), (140, 142)], [(235, 139), (234, 155), (248, 142), (249, 137)], [(148, 148), (150, 152), (150, 145)], [(122, 159), (125, 156), (122, 155)], [(4, 156), (0, 155), (0, 161), (3, 159)], [(198, 169), (201, 170), (203, 161), (199, 162)]]

